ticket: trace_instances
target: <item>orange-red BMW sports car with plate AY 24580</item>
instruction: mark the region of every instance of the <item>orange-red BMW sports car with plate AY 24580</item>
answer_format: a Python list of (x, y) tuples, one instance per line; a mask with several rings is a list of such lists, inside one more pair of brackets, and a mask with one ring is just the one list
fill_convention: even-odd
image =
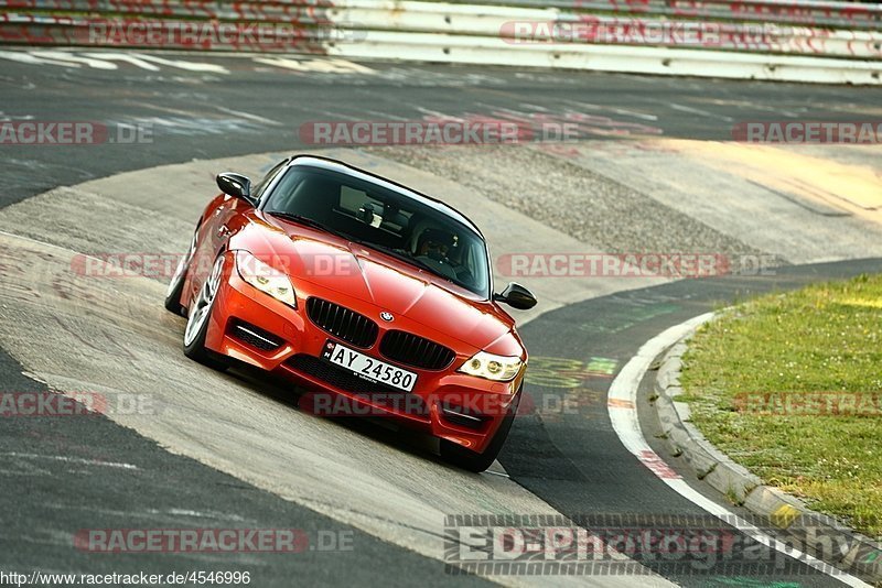
[(383, 415), (483, 471), (517, 412), (527, 351), (494, 294), (475, 225), (369, 172), (300, 155), (256, 186), (217, 176), (165, 307), (187, 318), (184, 353), (284, 374), (316, 414)]

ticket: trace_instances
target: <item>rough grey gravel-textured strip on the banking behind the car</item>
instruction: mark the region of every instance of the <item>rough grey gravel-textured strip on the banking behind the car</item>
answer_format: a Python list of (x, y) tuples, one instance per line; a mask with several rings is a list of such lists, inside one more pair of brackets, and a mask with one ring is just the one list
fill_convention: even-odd
[(384, 146), (367, 151), (451, 178), (602, 252), (764, 253), (624, 184), (536, 149)]

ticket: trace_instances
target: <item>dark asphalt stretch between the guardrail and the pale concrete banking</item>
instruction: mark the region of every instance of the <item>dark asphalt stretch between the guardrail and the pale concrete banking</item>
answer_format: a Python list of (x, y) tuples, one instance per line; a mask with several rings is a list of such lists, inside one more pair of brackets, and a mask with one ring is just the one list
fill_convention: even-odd
[[(108, 70), (80, 62), (65, 66), (56, 55), (21, 64), (9, 54), (26, 53), (3, 53), (4, 118), (50, 119), (63, 107), (65, 120), (153, 122), (157, 137), (150, 145), (138, 145), (137, 156), (109, 144), (89, 149), (88, 167), (72, 150), (41, 150), (39, 164), (31, 157), (36, 153), (17, 153), (3, 165), (3, 203), (151, 165), (291, 150), (298, 146), (300, 126), (315, 120), (419, 119), (430, 111), (455, 116), (505, 108), (536, 112), (531, 107), (539, 106), (602, 115), (625, 131), (645, 131), (634, 127), (641, 124), (660, 128), (665, 137), (729, 140), (733, 121), (807, 113), (818, 120), (854, 120), (878, 115), (879, 104), (873, 88), (389, 64), (370, 64), (372, 73), (345, 73), (349, 68), (343, 66), (336, 68), (344, 73), (327, 73), (333, 68), (309, 66), (322, 59), (304, 58), (298, 70), (245, 57), (185, 54), (173, 57), (228, 73), (170, 65), (151, 72), (120, 61), (109, 62), (118, 68)], [(347, 90), (340, 91), (341, 85)]]

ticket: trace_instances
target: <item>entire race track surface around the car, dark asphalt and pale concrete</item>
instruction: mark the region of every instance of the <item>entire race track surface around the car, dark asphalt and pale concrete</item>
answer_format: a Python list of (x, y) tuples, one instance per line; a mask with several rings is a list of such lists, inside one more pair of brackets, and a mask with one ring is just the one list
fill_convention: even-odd
[[(0, 389), (137, 392), (151, 407), (2, 420), (0, 570), (248, 570), (255, 586), (860, 586), (787, 556), (779, 567), (717, 562), (701, 573), (647, 564), (642, 575), (454, 576), (442, 560), (443, 516), (702, 515), (613, 431), (606, 392), (619, 370), (666, 328), (745, 295), (882, 266), (876, 208), (837, 200), (832, 184), (824, 184), (832, 196), (818, 196), (810, 181), (784, 188), (795, 173), (786, 164), (764, 167), (752, 154), (706, 145), (731, 141), (744, 121), (878, 120), (879, 90), (193, 54), (155, 54), (162, 62), (149, 68), (119, 55), (0, 52), (0, 121), (99, 121), (150, 137), (0, 145)], [(578, 142), (562, 148), (330, 153), (448, 199), (485, 229), (496, 257), (679, 249), (775, 260), (760, 275), (525, 277), (540, 298), (536, 312), (515, 315), (530, 351), (531, 404), (515, 421), (503, 469), (453, 470), (426, 439), (374, 422), (311, 417), (279, 382), (185, 360), (183, 322), (162, 309), (164, 277), (72, 272), (78, 253), (182, 251), (196, 210), (216, 192), (214, 173), (235, 166), (258, 175), (283, 153), (325, 149), (303, 144), (304, 124), (472, 116), (581, 126)], [(810, 157), (816, 174), (827, 174), (813, 176), (820, 183), (847, 184), (841, 174), (854, 173), (853, 185), (878, 199), (879, 154), (876, 145), (810, 146), (775, 156)], [(656, 448), (645, 391), (641, 401)], [(676, 457), (656, 450), (689, 478)], [(743, 514), (693, 477), (691, 486)], [(310, 548), (104, 554), (74, 540), (87, 529), (181, 527), (297, 529)]]

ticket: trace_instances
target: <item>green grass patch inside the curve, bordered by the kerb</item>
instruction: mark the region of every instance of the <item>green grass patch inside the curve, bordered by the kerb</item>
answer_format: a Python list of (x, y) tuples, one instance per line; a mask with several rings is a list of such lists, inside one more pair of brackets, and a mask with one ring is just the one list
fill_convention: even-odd
[[(682, 400), (711, 443), (810, 508), (882, 536), (882, 414), (865, 410), (882, 393), (882, 275), (742, 303), (699, 330), (684, 366)], [(792, 403), (817, 392), (873, 404), (863, 415), (755, 410), (757, 394)]]

